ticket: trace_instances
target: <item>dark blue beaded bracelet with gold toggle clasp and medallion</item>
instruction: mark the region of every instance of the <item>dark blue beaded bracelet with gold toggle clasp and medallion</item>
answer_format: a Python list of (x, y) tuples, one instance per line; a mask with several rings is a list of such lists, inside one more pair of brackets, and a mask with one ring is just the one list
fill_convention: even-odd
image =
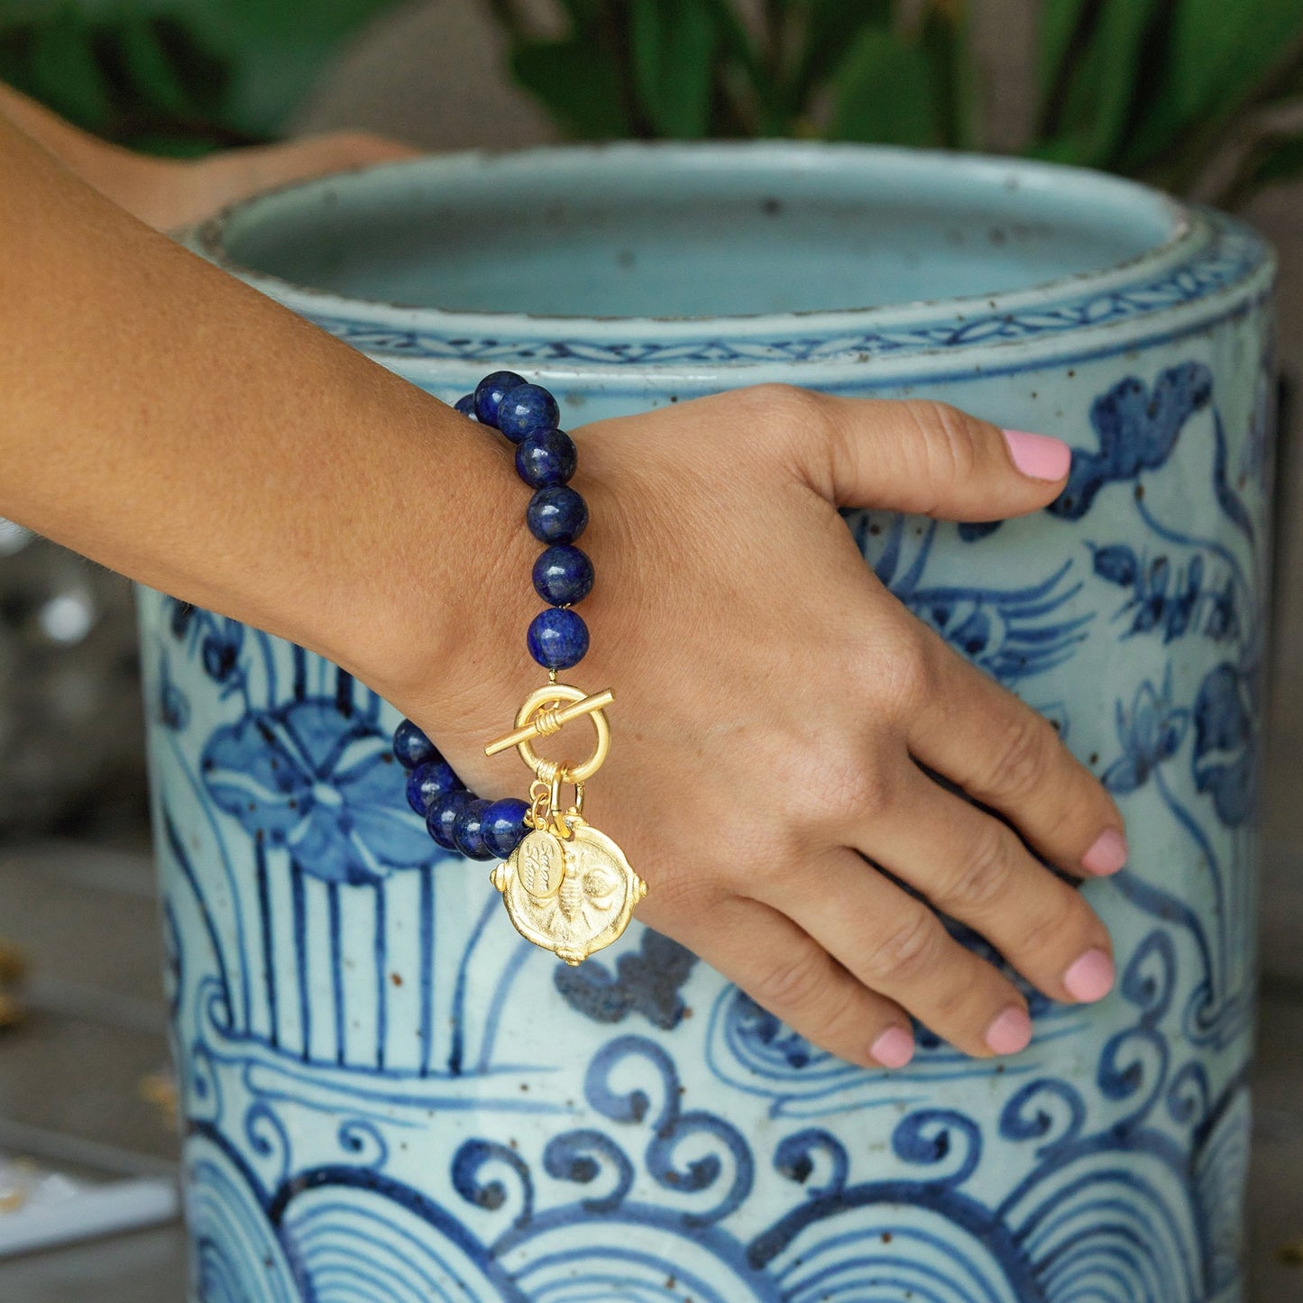
[[(409, 770), (408, 804), (423, 816), (430, 837), (472, 860), (506, 861), (494, 868), (490, 881), (502, 893), (516, 930), (577, 964), (624, 932), (648, 887), (624, 852), (584, 818), (584, 783), (601, 769), (610, 748), (605, 708), (614, 693), (590, 696), (556, 681), (558, 670), (577, 665), (588, 652), (588, 625), (572, 607), (593, 588), (593, 563), (575, 546), (588, 525), (588, 504), (568, 483), (579, 460), (575, 440), (558, 429), (556, 399), (515, 371), (486, 375), (473, 394), (457, 400), (456, 409), (516, 444), (516, 473), (534, 490), (525, 524), (545, 545), (533, 580), (534, 592), (549, 606), (530, 622), (525, 642), (547, 670), (547, 685), (525, 698), (512, 732), (485, 747), (487, 756), (515, 747), (534, 782), (529, 800), (476, 796), (410, 719), (394, 732), (394, 754)], [(588, 760), (572, 765), (534, 751), (536, 737), (580, 715), (588, 715), (597, 730)], [(562, 809), (566, 783), (573, 784), (575, 800)]]

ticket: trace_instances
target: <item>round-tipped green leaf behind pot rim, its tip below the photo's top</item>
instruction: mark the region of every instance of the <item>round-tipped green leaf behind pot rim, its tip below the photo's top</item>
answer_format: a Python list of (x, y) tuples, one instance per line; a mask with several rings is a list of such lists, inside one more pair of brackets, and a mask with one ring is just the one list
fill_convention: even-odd
[(835, 96), (830, 139), (942, 143), (936, 70), (919, 42), (861, 31), (838, 69)]

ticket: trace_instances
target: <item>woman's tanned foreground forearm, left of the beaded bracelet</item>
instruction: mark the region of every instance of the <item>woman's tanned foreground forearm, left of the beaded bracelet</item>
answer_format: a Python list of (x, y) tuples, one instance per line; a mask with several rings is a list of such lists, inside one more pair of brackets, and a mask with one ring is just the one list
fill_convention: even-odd
[(0, 515), (382, 691), (528, 575), (503, 448), (3, 117), (0, 294)]

